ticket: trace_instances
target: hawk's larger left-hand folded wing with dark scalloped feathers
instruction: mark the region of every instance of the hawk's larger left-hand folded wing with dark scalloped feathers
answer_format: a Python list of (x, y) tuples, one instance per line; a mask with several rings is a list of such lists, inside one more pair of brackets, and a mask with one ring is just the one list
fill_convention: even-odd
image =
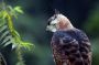
[(52, 48), (56, 65), (84, 65), (78, 42), (67, 35), (57, 37), (54, 36), (52, 39)]

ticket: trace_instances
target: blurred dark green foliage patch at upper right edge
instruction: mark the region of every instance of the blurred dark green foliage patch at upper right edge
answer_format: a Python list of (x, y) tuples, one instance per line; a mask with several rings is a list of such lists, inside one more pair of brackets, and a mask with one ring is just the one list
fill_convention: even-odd
[(90, 11), (87, 22), (85, 23), (86, 31), (92, 35), (99, 35), (99, 4)]

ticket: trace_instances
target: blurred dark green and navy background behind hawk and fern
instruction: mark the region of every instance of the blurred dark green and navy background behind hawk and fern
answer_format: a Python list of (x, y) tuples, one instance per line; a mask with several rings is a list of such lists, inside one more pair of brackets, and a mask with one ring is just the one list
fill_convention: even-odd
[[(47, 19), (54, 9), (65, 14), (72, 23), (84, 30), (92, 44), (92, 65), (99, 65), (99, 0), (6, 0), (8, 4), (21, 6), (24, 14), (14, 20), (14, 26), (24, 41), (35, 45), (24, 52), (26, 65), (55, 65), (51, 50), (53, 33), (46, 32)], [(15, 53), (8, 52), (8, 65), (15, 65)]]

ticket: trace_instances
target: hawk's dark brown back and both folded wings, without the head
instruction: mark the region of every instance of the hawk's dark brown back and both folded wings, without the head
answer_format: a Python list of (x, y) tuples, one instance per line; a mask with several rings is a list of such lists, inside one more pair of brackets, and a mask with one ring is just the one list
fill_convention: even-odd
[(70, 32), (69, 34), (59, 32), (54, 34), (52, 39), (56, 65), (91, 65), (91, 50), (88, 37), (81, 31)]

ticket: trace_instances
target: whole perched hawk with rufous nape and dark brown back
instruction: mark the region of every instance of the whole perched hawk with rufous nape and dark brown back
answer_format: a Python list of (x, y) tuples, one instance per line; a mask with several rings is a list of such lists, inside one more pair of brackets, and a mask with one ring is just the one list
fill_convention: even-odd
[(54, 32), (51, 46), (56, 65), (91, 65), (91, 44), (81, 30), (59, 12), (48, 19), (46, 30)]

